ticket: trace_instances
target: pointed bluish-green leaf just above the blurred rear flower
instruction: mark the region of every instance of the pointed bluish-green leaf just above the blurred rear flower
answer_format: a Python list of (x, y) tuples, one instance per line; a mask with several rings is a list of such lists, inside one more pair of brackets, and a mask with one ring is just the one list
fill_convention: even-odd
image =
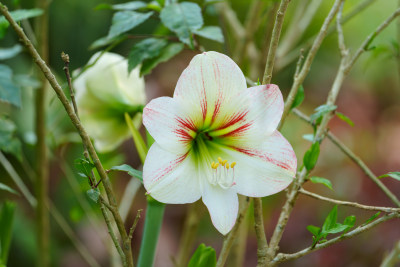
[(112, 24), (107, 38), (114, 38), (121, 33), (132, 30), (136, 26), (145, 22), (153, 12), (138, 13), (135, 11), (120, 11), (114, 14)]

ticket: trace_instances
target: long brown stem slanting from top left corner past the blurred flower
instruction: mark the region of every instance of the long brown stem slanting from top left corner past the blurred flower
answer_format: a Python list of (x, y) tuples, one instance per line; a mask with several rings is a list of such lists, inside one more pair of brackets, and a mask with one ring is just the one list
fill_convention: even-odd
[[(69, 105), (69, 101), (68, 101), (67, 97), (65, 96), (65, 94), (62, 90), (62, 87), (59, 85), (54, 74), (51, 72), (50, 68), (46, 65), (46, 63), (40, 57), (40, 55), (38, 54), (35, 47), (30, 42), (28, 37), (25, 35), (22, 28), (11, 17), (10, 13), (8, 12), (7, 7), (5, 5), (3, 5), (1, 2), (0, 2), (0, 11), (4, 15), (4, 17), (8, 20), (8, 22), (10, 23), (10, 25), (14, 29), (14, 31), (17, 33), (17, 35), (20, 37), (21, 42), (27, 48), (27, 50), (28, 50), (29, 54), (31, 55), (31, 57), (33, 58), (34, 62), (41, 69), (41, 71), (45, 75), (46, 79), (49, 81), (51, 87), (54, 89), (55, 93), (57, 94), (57, 97), (60, 99), (71, 122), (74, 124), (75, 128), (78, 130), (79, 135), (81, 136), (82, 142), (85, 144), (85, 146), (88, 149), (88, 152), (89, 152), (90, 157), (92, 158), (93, 164), (95, 165), (97, 172), (99, 173), (99, 176), (102, 180), (102, 184), (104, 186), (104, 189), (106, 191), (107, 198), (108, 198), (110, 204), (113, 207), (116, 207), (117, 202), (115, 200), (115, 195), (114, 195), (114, 192), (113, 192), (113, 189), (111, 186), (111, 182), (107, 176), (107, 173), (104, 170), (99, 157), (97, 156), (94, 146), (93, 146), (92, 142), (90, 141), (89, 135), (87, 134), (86, 130), (83, 128), (83, 126), (80, 123), (79, 118), (76, 116), (74, 110)], [(133, 266), (131, 243), (129, 241), (128, 234), (125, 230), (125, 226), (122, 221), (122, 218), (121, 218), (120, 214), (118, 213), (118, 211), (113, 213), (113, 217), (117, 224), (118, 231), (121, 235), (121, 239), (123, 242), (122, 248), (123, 248), (124, 254), (127, 258), (127, 266)]]

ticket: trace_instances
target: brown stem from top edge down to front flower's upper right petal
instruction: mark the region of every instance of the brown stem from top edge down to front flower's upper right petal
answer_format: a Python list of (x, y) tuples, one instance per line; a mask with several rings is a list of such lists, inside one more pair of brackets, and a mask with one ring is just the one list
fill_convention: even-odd
[(290, 0), (281, 0), (278, 12), (276, 13), (274, 29), (272, 30), (271, 43), (269, 45), (267, 62), (265, 65), (263, 84), (269, 84), (272, 79), (272, 71), (274, 69), (276, 50), (279, 44), (279, 37), (281, 35), (283, 19), (285, 18), (286, 9)]

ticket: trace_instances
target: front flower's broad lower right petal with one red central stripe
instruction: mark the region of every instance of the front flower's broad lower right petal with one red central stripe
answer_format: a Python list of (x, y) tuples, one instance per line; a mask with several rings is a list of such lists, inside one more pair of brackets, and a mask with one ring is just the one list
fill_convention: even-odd
[(262, 143), (251, 143), (247, 147), (219, 146), (218, 152), (228, 162), (236, 162), (236, 185), (232, 188), (241, 195), (264, 197), (278, 193), (293, 181), (296, 174), (296, 155), (278, 131)]

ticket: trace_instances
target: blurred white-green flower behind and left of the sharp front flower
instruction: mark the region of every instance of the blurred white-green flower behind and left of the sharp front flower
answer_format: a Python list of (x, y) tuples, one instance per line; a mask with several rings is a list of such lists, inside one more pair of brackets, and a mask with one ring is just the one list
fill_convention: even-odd
[[(92, 56), (93, 64), (99, 53)], [(139, 68), (128, 73), (128, 62), (114, 53), (100, 59), (74, 81), (76, 103), (83, 126), (100, 152), (115, 149), (130, 136), (125, 122), (127, 112), (134, 126), (141, 124), (146, 96)]]

